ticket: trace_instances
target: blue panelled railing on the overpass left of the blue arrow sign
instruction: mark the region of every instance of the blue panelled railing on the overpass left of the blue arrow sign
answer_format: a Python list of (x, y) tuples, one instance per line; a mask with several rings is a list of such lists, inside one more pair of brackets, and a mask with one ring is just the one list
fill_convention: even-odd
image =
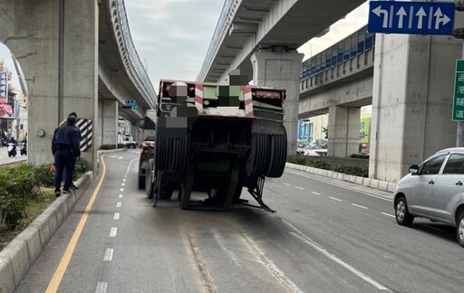
[(330, 70), (344, 61), (350, 61), (375, 47), (375, 33), (367, 32), (367, 25), (335, 43), (323, 52), (314, 55), (302, 64), (300, 81), (312, 78), (323, 71)]

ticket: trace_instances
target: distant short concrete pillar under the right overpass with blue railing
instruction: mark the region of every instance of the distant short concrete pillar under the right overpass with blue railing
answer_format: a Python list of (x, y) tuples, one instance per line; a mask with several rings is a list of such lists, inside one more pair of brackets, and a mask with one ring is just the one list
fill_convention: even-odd
[(349, 157), (359, 153), (360, 114), (359, 107), (329, 108), (327, 156)]

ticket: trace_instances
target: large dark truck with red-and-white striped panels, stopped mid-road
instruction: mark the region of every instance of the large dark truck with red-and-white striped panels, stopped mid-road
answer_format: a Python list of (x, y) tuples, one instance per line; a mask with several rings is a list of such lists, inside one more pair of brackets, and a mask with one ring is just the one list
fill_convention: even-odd
[[(285, 169), (285, 89), (160, 80), (145, 190), (154, 205), (178, 191), (181, 209), (229, 210), (243, 188), (259, 205), (266, 177)], [(192, 197), (195, 192), (196, 197)], [(203, 194), (204, 199), (198, 194)], [(274, 211), (272, 211), (274, 212)]]

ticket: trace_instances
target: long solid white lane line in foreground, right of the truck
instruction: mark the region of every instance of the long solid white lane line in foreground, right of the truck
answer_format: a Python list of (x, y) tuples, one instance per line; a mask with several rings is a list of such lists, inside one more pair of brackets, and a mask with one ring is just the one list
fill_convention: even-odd
[(348, 269), (349, 271), (353, 272), (354, 275), (358, 276), (359, 278), (365, 280), (366, 282), (372, 284), (372, 286), (374, 286), (375, 288), (378, 288), (379, 290), (390, 290), (389, 288), (386, 288), (384, 287), (382, 284), (378, 283), (377, 281), (375, 281), (374, 279), (372, 279), (371, 277), (363, 274), (361, 271), (359, 271), (358, 269), (354, 269), (352, 266), (350, 266), (349, 264), (347, 264), (346, 262), (344, 262), (343, 260), (339, 259), (338, 257), (336, 257), (335, 255), (333, 255), (332, 253), (330, 253), (329, 251), (325, 250), (323, 247), (321, 247), (317, 242), (313, 241), (311, 238), (307, 237), (306, 235), (304, 235), (303, 232), (300, 232), (294, 225), (292, 225), (291, 223), (289, 222), (286, 222), (285, 220), (283, 221), (285, 222), (285, 224), (287, 224), (288, 226), (290, 226), (290, 228), (292, 228), (293, 230), (295, 230), (295, 232), (290, 232), (290, 234), (292, 234), (293, 236), (295, 236), (296, 238), (298, 238), (299, 240), (301, 241), (304, 241), (304, 243), (306, 243), (307, 245), (311, 246), (312, 248), (314, 248), (314, 250), (317, 250), (319, 251), (320, 253), (322, 253), (326, 258), (328, 258), (329, 260), (333, 260), (335, 263), (339, 264), (340, 266), (342, 266), (343, 268), (345, 269)]

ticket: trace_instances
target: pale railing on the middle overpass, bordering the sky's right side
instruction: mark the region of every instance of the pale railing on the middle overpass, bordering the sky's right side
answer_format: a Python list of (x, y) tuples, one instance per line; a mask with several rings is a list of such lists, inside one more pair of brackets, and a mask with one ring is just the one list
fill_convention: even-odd
[(199, 71), (197, 80), (203, 80), (206, 71), (208, 70), (208, 66), (212, 61), (213, 56), (216, 55), (218, 52), (218, 46), (221, 43), (222, 39), (224, 38), (224, 29), (227, 22), (227, 15), (230, 13), (230, 8), (232, 7), (233, 0), (226, 0), (224, 2), (224, 6), (222, 6), (222, 11), (218, 19), (218, 24), (216, 25), (216, 29), (213, 33), (213, 38), (211, 39), (211, 43), (209, 43), (208, 52), (203, 61), (203, 65), (201, 66), (201, 71)]

